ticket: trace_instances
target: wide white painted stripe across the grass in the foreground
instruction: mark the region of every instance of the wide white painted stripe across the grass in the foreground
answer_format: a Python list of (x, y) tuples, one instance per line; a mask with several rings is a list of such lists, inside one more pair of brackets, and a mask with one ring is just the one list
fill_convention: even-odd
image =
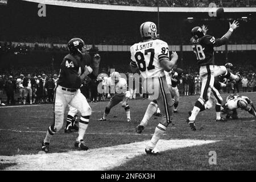
[[(172, 139), (159, 140), (161, 152), (176, 148), (200, 146), (219, 140)], [(0, 156), (0, 163), (17, 163), (5, 170), (109, 170), (118, 167), (139, 155), (145, 155), (146, 141), (120, 144), (118, 146), (94, 148), (88, 151), (69, 151), (65, 153)]]

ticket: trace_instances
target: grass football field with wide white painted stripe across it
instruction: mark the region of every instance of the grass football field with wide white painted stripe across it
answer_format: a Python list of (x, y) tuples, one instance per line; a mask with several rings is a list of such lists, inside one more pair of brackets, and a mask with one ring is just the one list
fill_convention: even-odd
[[(256, 93), (244, 95), (256, 102)], [(38, 151), (53, 122), (53, 105), (0, 107), (0, 169), (256, 170), (255, 118), (238, 110), (239, 119), (215, 122), (211, 109), (199, 114), (198, 130), (191, 131), (185, 119), (197, 97), (180, 98), (179, 113), (174, 114), (174, 122), (158, 143), (159, 156), (144, 154), (145, 141), (151, 139), (158, 117), (152, 117), (143, 134), (135, 133), (149, 100), (129, 101), (131, 123), (126, 122), (121, 105), (110, 111), (108, 121), (97, 121), (107, 102), (90, 103), (93, 114), (85, 135), (90, 149), (76, 151), (77, 133), (65, 134), (63, 129), (44, 155)], [(209, 164), (210, 151), (216, 152), (217, 164)]]

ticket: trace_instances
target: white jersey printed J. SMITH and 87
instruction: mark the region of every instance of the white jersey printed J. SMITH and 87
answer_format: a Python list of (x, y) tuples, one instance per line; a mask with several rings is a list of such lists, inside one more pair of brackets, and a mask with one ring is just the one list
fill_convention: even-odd
[(169, 48), (166, 42), (162, 40), (150, 40), (134, 44), (130, 48), (131, 64), (139, 68), (143, 78), (162, 77), (164, 69), (160, 61), (169, 58)]

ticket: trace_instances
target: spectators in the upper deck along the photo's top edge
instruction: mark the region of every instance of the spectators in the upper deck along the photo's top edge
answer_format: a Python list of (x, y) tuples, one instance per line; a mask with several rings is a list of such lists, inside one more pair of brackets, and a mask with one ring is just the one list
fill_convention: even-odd
[[(125, 5), (125, 6), (158, 6), (157, 0), (66, 0), (82, 3), (97, 3), (105, 5)], [(253, 0), (159, 0), (161, 7), (208, 7), (209, 3), (216, 3), (217, 7), (255, 7)]]

